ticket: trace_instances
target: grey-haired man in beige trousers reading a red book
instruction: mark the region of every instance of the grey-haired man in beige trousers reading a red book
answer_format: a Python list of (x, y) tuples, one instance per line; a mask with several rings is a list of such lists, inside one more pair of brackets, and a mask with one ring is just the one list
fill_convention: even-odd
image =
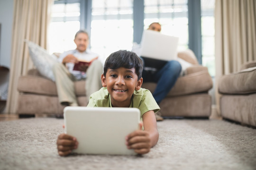
[(98, 54), (87, 49), (89, 35), (80, 30), (75, 34), (75, 50), (65, 51), (59, 57), (59, 63), (53, 66), (59, 102), (65, 106), (78, 106), (74, 81), (85, 80), (85, 92), (90, 95), (101, 89), (103, 64)]

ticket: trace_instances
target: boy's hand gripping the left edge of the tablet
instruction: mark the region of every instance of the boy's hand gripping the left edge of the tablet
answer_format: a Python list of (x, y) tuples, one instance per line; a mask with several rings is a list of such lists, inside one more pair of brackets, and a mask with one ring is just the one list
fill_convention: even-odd
[(60, 156), (66, 156), (72, 152), (73, 149), (76, 149), (78, 146), (78, 142), (75, 137), (60, 134), (57, 139), (57, 149)]

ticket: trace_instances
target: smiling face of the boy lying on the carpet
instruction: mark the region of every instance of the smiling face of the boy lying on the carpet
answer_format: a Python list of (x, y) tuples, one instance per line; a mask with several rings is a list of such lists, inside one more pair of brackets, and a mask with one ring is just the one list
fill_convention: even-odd
[(102, 86), (107, 87), (113, 107), (129, 107), (132, 94), (140, 89), (142, 80), (138, 80), (135, 68), (109, 68), (106, 77), (101, 75)]

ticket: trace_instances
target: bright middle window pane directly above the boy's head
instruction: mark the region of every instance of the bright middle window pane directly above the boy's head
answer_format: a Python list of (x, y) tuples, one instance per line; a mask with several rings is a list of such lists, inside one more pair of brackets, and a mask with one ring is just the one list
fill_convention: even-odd
[(103, 59), (133, 43), (133, 0), (92, 0), (91, 51)]

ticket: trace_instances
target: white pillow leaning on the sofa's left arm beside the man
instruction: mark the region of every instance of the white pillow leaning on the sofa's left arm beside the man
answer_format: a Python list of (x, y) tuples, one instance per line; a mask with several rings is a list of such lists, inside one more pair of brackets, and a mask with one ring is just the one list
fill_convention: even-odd
[(27, 42), (30, 58), (32, 59), (39, 73), (42, 76), (55, 81), (52, 67), (58, 62), (57, 57), (54, 54), (50, 55), (45, 49), (34, 42), (30, 42), (28, 40), (25, 40), (25, 42)]

